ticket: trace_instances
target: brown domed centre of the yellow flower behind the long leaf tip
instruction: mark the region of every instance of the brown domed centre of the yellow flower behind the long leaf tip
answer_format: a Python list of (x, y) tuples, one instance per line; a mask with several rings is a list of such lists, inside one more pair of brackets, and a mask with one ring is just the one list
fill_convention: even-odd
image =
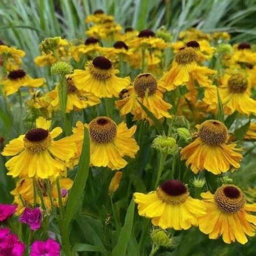
[(89, 123), (90, 138), (97, 143), (113, 141), (117, 134), (117, 125), (108, 117), (97, 117)]

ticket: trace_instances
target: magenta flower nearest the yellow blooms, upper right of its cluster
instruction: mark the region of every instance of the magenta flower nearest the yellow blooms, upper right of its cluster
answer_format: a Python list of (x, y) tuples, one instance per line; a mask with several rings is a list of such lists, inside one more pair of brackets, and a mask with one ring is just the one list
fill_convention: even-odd
[(19, 217), (19, 221), (30, 226), (32, 230), (40, 229), (42, 213), (39, 207), (30, 209), (26, 207)]

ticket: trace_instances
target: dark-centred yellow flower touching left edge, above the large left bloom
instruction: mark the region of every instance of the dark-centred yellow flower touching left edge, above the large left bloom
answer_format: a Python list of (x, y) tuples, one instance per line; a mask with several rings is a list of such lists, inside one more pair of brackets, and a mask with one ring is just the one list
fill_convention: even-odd
[(43, 83), (43, 78), (32, 79), (23, 69), (11, 71), (7, 79), (0, 81), (0, 84), (4, 86), (6, 96), (18, 92), (21, 86), (39, 87)]

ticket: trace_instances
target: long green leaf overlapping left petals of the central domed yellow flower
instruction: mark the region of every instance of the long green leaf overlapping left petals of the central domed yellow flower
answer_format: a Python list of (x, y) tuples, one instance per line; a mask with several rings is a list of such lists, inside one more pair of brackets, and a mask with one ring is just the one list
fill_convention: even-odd
[(71, 222), (75, 216), (77, 210), (79, 209), (80, 200), (86, 181), (89, 174), (90, 166), (90, 140), (89, 132), (86, 127), (84, 127), (84, 142), (82, 143), (82, 152), (79, 160), (79, 167), (77, 169), (77, 174), (75, 181), (72, 185), (71, 191), (69, 192), (67, 207), (65, 210), (65, 221)]

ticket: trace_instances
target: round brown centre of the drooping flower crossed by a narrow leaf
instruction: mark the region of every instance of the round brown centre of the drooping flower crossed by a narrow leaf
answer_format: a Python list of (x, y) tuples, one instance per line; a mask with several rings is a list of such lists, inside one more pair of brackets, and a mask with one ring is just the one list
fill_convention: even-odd
[(146, 92), (148, 96), (153, 95), (156, 92), (158, 82), (155, 77), (150, 73), (144, 73), (137, 76), (134, 80), (134, 89), (139, 97), (145, 97)]

